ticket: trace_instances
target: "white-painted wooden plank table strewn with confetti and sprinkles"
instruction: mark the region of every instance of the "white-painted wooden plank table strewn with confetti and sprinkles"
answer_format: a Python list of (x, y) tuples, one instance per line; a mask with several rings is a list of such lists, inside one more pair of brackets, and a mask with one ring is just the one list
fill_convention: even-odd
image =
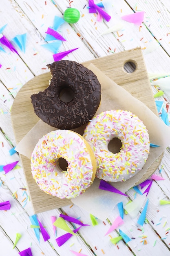
[[(95, 1), (98, 3), (101, 1)], [(81, 13), (80, 20), (70, 25), (64, 23), (58, 30), (66, 42), (63, 42), (59, 52), (79, 47), (64, 59), (79, 63), (94, 58), (107, 56), (114, 52), (141, 47), (150, 49), (144, 54), (148, 73), (155, 73), (155, 77), (170, 75), (170, 1), (169, 0), (106, 0), (110, 14), (110, 22), (97, 21), (97, 15), (89, 13), (87, 0), (1, 0), (0, 28), (7, 24), (2, 35), (11, 41), (16, 35), (26, 33), (26, 52), (18, 47), (18, 54), (13, 53), (6, 46), (0, 44), (5, 50), (0, 50), (0, 166), (4, 166), (19, 159), (17, 153), (9, 154), (9, 150), (16, 146), (13, 128), (11, 125), (11, 106), (17, 92), (22, 85), (34, 76), (47, 72), (46, 65), (53, 62), (53, 53), (42, 47), (45, 44), (46, 30), (53, 26), (54, 16), (63, 17), (67, 7), (75, 7)], [(145, 11), (144, 22), (139, 25), (121, 20), (121, 16), (133, 12)], [(97, 36), (119, 22), (123, 27), (118, 32)], [(146, 52), (145, 52), (146, 53)], [(156, 90), (153, 87), (153, 92)], [(166, 94), (159, 98), (166, 102)], [(22, 111), (22, 110), (21, 110)], [(116, 245), (110, 238), (119, 236), (119, 229), (104, 236), (110, 224), (119, 216), (117, 207), (110, 213), (105, 221), (97, 219), (98, 225), (93, 226), (88, 212), (76, 205), (69, 205), (62, 209), (38, 213), (38, 219), (46, 227), (50, 239), (44, 242), (40, 234), (38, 242), (29, 216), (33, 209), (29, 200), (26, 180), (21, 162), (18, 168), (6, 175), (0, 172), (0, 202), (10, 201), (11, 209), (0, 211), (0, 255), (17, 256), (18, 252), (31, 247), (33, 256), (71, 256), (73, 252), (87, 256), (111, 255), (170, 255), (170, 204), (160, 205), (160, 200), (170, 200), (170, 148), (164, 153), (162, 162), (155, 172), (165, 180), (153, 181), (148, 193), (150, 209), (148, 209), (148, 222), (143, 227), (137, 226), (139, 212), (135, 219), (129, 215), (124, 216), (124, 225), (120, 227), (131, 241), (119, 241)], [(139, 196), (134, 189), (127, 192), (129, 199)], [(82, 227), (79, 236), (72, 236), (64, 245), (59, 247), (55, 241), (51, 224), (51, 216), (58, 217), (66, 213), (74, 218), (80, 218), (88, 227)], [(73, 223), (68, 223), (73, 229)], [(16, 234), (21, 238), (13, 249)], [(57, 228), (57, 237), (66, 232)], [(144, 243), (145, 240), (145, 243)], [(80, 255), (81, 255), (80, 254)], [(77, 254), (78, 255), (78, 254)]]

